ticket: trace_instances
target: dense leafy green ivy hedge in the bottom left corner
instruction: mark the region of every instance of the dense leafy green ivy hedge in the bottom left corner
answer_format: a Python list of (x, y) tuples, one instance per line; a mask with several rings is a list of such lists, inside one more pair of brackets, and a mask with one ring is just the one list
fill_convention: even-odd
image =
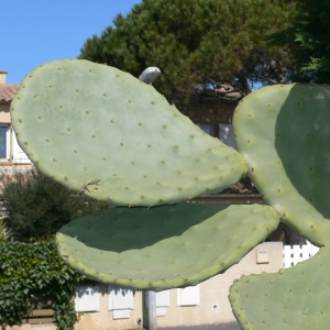
[(54, 242), (0, 243), (0, 324), (21, 324), (34, 309), (33, 297), (46, 296), (46, 308), (55, 310), (58, 330), (69, 330), (77, 321), (73, 295), (85, 277), (59, 257)]

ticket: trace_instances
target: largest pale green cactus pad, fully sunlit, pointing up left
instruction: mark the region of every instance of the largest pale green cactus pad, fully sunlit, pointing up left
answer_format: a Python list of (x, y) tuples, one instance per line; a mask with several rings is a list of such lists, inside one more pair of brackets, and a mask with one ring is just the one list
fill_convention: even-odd
[(218, 193), (248, 172), (130, 74), (87, 61), (56, 61), (28, 75), (15, 96), (18, 141), (46, 175), (114, 205), (154, 206)]

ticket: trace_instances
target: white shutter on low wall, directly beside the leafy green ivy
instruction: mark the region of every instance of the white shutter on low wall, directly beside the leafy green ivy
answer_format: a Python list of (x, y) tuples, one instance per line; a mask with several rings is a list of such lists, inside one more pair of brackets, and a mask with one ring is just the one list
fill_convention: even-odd
[(76, 287), (76, 311), (100, 310), (100, 288), (96, 286)]

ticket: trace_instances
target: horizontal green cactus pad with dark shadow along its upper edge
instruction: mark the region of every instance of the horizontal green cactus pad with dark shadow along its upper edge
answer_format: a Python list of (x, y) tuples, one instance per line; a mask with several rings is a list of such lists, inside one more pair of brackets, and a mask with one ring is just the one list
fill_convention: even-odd
[(260, 205), (118, 207), (72, 221), (56, 241), (91, 279), (163, 290), (224, 272), (278, 223), (277, 212)]

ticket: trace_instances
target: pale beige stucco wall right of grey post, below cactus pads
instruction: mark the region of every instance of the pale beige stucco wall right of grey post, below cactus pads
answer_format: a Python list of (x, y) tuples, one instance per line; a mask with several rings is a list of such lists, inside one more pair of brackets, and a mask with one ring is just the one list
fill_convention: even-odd
[[(268, 249), (268, 264), (256, 264), (257, 249)], [(199, 306), (177, 306), (176, 289), (173, 289), (170, 292), (170, 306), (167, 308), (166, 316), (157, 317), (157, 326), (158, 328), (179, 329), (179, 327), (188, 326), (231, 323), (229, 329), (240, 330), (241, 328), (235, 321), (228, 299), (229, 287), (234, 279), (240, 278), (242, 275), (260, 274), (262, 272), (275, 273), (282, 267), (283, 243), (267, 242), (260, 244), (224, 274), (217, 275), (200, 284)]]

